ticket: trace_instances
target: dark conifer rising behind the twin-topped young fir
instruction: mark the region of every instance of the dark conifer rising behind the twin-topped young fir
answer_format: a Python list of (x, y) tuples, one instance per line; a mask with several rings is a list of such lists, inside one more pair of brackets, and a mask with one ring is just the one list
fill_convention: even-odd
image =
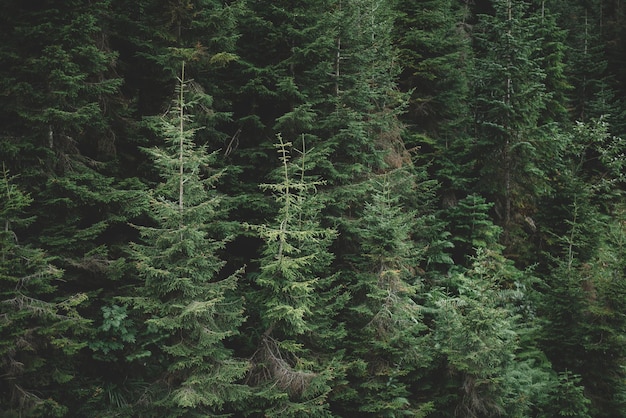
[[(259, 194), (256, 183), (274, 167), (277, 133), (286, 138), (304, 135), (313, 150), (309, 163), (328, 165), (328, 153), (318, 145), (328, 135), (319, 129), (320, 121), (334, 109), (329, 96), (335, 92), (336, 28), (330, 19), (335, 3), (248, 2), (242, 13), (237, 43), (240, 59), (232, 72), (223, 74), (233, 103), (229, 127), (235, 133), (226, 149), (229, 162), (241, 171), (232, 189), (246, 196), (238, 213), (251, 223), (263, 223), (263, 214), (273, 213), (271, 201)], [(312, 169), (330, 180), (327, 172)]]

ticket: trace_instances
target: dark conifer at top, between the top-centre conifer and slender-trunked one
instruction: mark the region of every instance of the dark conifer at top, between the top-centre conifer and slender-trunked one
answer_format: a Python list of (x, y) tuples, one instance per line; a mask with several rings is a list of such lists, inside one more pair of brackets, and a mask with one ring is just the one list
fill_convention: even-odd
[(394, 41), (402, 71), (398, 85), (410, 92), (403, 137), (419, 147), (414, 159), (428, 164), (441, 183), (444, 203), (472, 181), (469, 160), (469, 75), (472, 52), (467, 4), (449, 0), (397, 1)]

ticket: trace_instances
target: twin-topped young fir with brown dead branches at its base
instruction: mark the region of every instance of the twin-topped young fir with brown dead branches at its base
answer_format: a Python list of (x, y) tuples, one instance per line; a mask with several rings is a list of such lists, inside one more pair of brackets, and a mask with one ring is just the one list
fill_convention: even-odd
[(258, 347), (252, 356), (248, 382), (256, 389), (256, 404), (247, 414), (264, 416), (329, 416), (328, 393), (340, 374), (336, 351), (345, 337), (333, 316), (344, 303), (329, 274), (329, 246), (334, 229), (320, 224), (323, 183), (306, 174), (308, 152), (290, 161), (290, 142), (278, 135), (282, 166), (274, 183), (262, 184), (278, 204), (274, 222), (250, 226), (264, 241), (258, 286), (247, 299), (258, 312)]

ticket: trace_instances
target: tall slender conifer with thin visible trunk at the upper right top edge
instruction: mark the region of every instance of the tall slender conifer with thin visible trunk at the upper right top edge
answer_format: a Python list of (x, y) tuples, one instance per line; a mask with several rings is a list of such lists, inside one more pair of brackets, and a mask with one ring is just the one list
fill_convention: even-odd
[(493, 14), (478, 16), (475, 30), (478, 189), (495, 203), (502, 239), (518, 253), (526, 252), (524, 229), (547, 187), (543, 161), (551, 158), (550, 131), (541, 124), (547, 92), (534, 53), (536, 26), (527, 2), (502, 0)]

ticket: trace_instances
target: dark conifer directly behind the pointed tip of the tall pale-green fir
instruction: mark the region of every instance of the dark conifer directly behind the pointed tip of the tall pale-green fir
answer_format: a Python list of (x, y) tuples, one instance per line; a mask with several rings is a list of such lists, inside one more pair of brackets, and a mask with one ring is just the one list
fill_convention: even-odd
[[(230, 120), (231, 65), (236, 61), (237, 21), (243, 2), (216, 0), (111, 0), (111, 45), (118, 52), (117, 74), (124, 79), (121, 89), (130, 117), (118, 124), (117, 156), (120, 176), (151, 177), (151, 164), (141, 147), (158, 142), (143, 117), (162, 114), (169, 107), (180, 61), (193, 63), (187, 72), (190, 91), (197, 96), (194, 118), (203, 129), (196, 142), (224, 153), (235, 130), (223, 124)], [(183, 58), (184, 57), (184, 58)], [(233, 148), (236, 148), (234, 146)], [(222, 167), (225, 159), (216, 159)], [(234, 171), (234, 170), (231, 170)], [(220, 181), (220, 188), (239, 187)]]

